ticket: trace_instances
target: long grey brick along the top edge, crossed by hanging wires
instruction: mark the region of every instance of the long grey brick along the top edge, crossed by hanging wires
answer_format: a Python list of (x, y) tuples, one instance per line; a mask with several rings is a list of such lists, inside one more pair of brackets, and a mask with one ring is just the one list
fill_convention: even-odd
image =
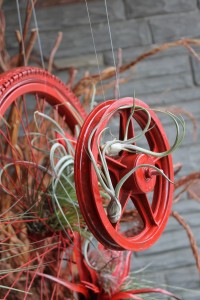
[[(20, 14), (22, 20), (24, 20), (26, 5), (27, 1), (20, 1)], [(12, 24), (15, 26), (18, 25), (16, 2), (4, 1), (3, 9), (6, 17), (9, 18)], [(92, 24), (107, 21), (104, 1), (89, 1), (88, 9)], [(110, 21), (120, 21), (125, 19), (124, 4), (122, 0), (107, 1), (107, 9)], [(89, 24), (85, 2), (44, 8), (38, 8), (36, 6), (35, 10), (38, 25), (44, 30), (62, 30), (63, 26)], [(35, 26), (33, 18), (31, 25)]]

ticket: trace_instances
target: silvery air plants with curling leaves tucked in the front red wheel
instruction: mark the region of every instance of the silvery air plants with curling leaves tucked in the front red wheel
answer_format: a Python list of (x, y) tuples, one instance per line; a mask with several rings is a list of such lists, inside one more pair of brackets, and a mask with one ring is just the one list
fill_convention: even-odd
[[(153, 164), (141, 164), (139, 166), (133, 167), (129, 172), (127, 172), (120, 180), (117, 182), (116, 186), (113, 186), (112, 180), (111, 180), (111, 174), (108, 168), (108, 164), (106, 161), (106, 156), (109, 157), (115, 157), (119, 156), (121, 151), (128, 152), (128, 153), (143, 153), (150, 155), (152, 157), (156, 157), (158, 159), (165, 157), (169, 154), (171, 154), (173, 151), (175, 151), (181, 142), (183, 141), (184, 135), (185, 135), (185, 125), (184, 121), (181, 117), (178, 117), (171, 112), (163, 112), (164, 114), (168, 115), (173, 122), (175, 123), (176, 127), (176, 138), (174, 141), (174, 144), (172, 147), (164, 152), (155, 152), (151, 151), (149, 149), (145, 149), (142, 147), (138, 147), (135, 145), (135, 143), (139, 140), (141, 140), (145, 134), (151, 130), (150, 124), (151, 124), (151, 115), (149, 114), (149, 109), (146, 109), (142, 106), (135, 105), (134, 99), (133, 99), (133, 106), (123, 106), (119, 107), (117, 110), (113, 111), (111, 114), (112, 116), (117, 113), (118, 110), (124, 110), (124, 109), (131, 109), (131, 113), (128, 116), (127, 119), (127, 124), (125, 124), (125, 132), (124, 136), (122, 139), (115, 138), (114, 136), (112, 137), (111, 140), (108, 140), (106, 142), (103, 142), (102, 135), (105, 134), (106, 130), (109, 130), (109, 127), (104, 128), (98, 135), (97, 137), (97, 148), (98, 148), (98, 155), (100, 157), (101, 165), (102, 168), (98, 167), (98, 161), (95, 160), (92, 149), (91, 149), (91, 141), (93, 139), (93, 136), (95, 132), (97, 131), (97, 128), (100, 126), (100, 123), (93, 129), (89, 139), (88, 139), (88, 153), (90, 155), (90, 159), (92, 161), (92, 164), (94, 166), (95, 172), (97, 174), (99, 183), (104, 190), (104, 192), (108, 195), (110, 198), (110, 202), (107, 206), (107, 214), (108, 218), (112, 223), (116, 223), (121, 214), (122, 214), (122, 209), (121, 209), (121, 204), (119, 201), (119, 194), (122, 186), (125, 184), (125, 182), (130, 178), (130, 176), (136, 172), (139, 168), (150, 168), (156, 171), (157, 175), (162, 175), (164, 176), (167, 180), (170, 181), (170, 179), (167, 177), (167, 175), (163, 172), (163, 170), (159, 169)], [(134, 113), (138, 111), (144, 111), (145, 114), (147, 115), (147, 123), (144, 126), (144, 129), (138, 133), (136, 136), (128, 138), (128, 130), (129, 130), (129, 125), (134, 117)], [(156, 111), (156, 110), (154, 110)], [(161, 110), (159, 112), (162, 112)], [(111, 118), (112, 116), (109, 116)], [(104, 119), (101, 122), (105, 122), (106, 118), (108, 116), (105, 116)], [(181, 128), (180, 128), (181, 127)]]

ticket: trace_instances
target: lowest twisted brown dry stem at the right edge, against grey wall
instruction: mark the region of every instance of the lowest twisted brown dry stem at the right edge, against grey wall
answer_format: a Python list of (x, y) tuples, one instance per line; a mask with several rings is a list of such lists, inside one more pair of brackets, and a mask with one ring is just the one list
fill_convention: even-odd
[(196, 242), (196, 239), (191, 231), (191, 228), (190, 226), (186, 223), (186, 221), (179, 215), (178, 212), (176, 211), (172, 211), (171, 213), (172, 217), (174, 217), (178, 223), (185, 229), (187, 235), (188, 235), (188, 238), (190, 240), (190, 245), (191, 245), (191, 249), (192, 249), (192, 252), (193, 252), (193, 255), (195, 257), (195, 260), (196, 260), (196, 265), (197, 265), (197, 269), (198, 271), (200, 272), (200, 254), (199, 254), (199, 251), (198, 251), (198, 246), (197, 246), (197, 242)]

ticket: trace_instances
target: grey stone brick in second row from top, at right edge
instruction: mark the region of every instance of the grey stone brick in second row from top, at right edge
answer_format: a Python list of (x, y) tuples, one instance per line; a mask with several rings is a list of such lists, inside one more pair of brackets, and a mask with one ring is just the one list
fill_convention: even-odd
[(150, 18), (155, 43), (200, 36), (200, 13), (188, 12)]

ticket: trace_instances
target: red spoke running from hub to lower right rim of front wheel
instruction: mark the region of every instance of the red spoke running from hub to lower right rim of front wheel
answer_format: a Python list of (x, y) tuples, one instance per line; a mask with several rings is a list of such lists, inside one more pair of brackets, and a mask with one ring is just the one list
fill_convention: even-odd
[(134, 194), (131, 199), (146, 226), (158, 225), (146, 194)]

